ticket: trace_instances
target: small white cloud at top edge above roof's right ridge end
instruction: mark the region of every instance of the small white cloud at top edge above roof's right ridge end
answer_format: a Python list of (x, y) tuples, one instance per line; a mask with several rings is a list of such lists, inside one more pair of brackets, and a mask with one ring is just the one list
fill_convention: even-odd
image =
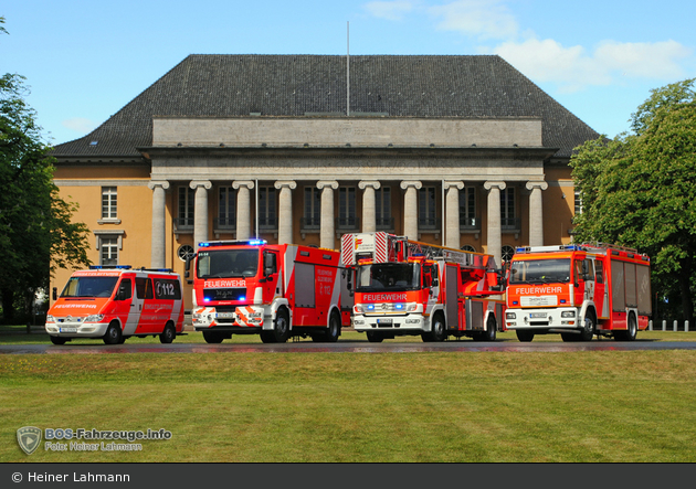
[(479, 39), (510, 39), (519, 29), (508, 8), (495, 0), (457, 0), (431, 7), (428, 12), (441, 18), (437, 29)]

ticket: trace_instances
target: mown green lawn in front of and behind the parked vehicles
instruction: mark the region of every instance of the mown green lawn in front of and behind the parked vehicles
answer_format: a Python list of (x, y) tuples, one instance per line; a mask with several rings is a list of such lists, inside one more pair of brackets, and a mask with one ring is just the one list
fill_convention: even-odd
[[(22, 426), (172, 437), (28, 456)], [(4, 354), (0, 436), (2, 463), (693, 463), (696, 352)]]

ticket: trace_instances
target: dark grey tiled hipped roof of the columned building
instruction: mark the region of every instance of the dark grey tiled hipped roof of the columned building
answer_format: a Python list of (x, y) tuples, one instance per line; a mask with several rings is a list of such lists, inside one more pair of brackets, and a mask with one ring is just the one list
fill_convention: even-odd
[[(346, 114), (346, 56), (190, 55), (56, 157), (135, 157), (154, 116)], [(350, 56), (350, 113), (540, 117), (558, 157), (599, 135), (499, 56)], [(94, 143), (96, 141), (96, 143)]]

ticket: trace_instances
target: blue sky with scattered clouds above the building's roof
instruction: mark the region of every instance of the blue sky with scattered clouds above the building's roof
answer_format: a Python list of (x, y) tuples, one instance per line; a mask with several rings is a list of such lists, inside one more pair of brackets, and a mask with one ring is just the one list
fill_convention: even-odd
[(6, 0), (0, 73), (45, 139), (80, 138), (189, 54), (499, 54), (601, 134), (696, 77), (696, 2)]

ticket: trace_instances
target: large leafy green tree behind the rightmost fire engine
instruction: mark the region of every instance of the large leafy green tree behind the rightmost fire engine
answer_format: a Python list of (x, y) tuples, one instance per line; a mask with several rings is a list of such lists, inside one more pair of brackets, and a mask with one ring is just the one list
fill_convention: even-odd
[(695, 81), (653, 89), (632, 114), (632, 134), (587, 141), (576, 148), (570, 162), (583, 208), (576, 219), (576, 241), (613, 243), (647, 253), (653, 264), (653, 291), (671, 305), (681, 302), (682, 319), (692, 325)]

